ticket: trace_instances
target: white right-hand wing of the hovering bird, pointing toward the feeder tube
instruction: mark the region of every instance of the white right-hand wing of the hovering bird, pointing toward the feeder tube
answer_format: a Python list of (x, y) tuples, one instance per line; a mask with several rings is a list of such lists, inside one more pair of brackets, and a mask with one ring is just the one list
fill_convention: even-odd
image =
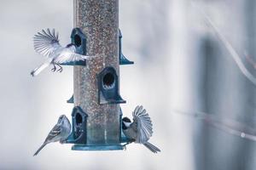
[(80, 60), (85, 60), (89, 58), (90, 58), (89, 56), (80, 55), (80, 54), (73, 53), (70, 50), (65, 50), (58, 57), (54, 59), (54, 62), (58, 64), (63, 64), (67, 62), (80, 61)]

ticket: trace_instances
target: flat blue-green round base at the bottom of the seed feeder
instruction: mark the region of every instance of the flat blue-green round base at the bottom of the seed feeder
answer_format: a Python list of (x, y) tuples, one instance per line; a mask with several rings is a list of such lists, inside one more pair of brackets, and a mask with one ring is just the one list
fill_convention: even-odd
[(72, 150), (123, 150), (121, 144), (113, 145), (86, 145), (86, 144), (74, 144)]

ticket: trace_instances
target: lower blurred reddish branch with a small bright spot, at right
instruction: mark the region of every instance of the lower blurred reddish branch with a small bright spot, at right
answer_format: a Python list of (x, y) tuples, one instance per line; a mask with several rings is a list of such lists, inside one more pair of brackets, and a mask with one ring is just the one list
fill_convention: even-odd
[(220, 116), (207, 114), (202, 111), (173, 111), (177, 114), (182, 114), (185, 116), (191, 116), (197, 119), (201, 119), (212, 127), (216, 127), (226, 133), (236, 135), (238, 137), (256, 141), (256, 129), (249, 127), (241, 122), (236, 122), (227, 118)]

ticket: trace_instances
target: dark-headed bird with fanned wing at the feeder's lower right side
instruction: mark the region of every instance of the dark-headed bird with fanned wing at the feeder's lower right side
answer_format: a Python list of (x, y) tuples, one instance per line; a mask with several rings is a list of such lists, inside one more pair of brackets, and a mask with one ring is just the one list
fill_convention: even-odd
[(131, 139), (132, 142), (144, 144), (148, 150), (151, 150), (154, 153), (160, 151), (154, 144), (148, 142), (148, 139), (153, 133), (153, 125), (147, 111), (143, 109), (143, 106), (137, 106), (132, 112), (132, 116), (133, 122), (131, 122), (128, 117), (122, 119), (122, 129), (125, 136), (128, 139)]

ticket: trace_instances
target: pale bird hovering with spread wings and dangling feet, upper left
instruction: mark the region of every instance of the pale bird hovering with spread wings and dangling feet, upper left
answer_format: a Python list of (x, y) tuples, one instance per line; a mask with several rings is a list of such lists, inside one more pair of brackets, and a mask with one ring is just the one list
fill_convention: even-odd
[(49, 31), (49, 29), (46, 31), (42, 30), (42, 32), (38, 32), (38, 34), (34, 36), (33, 40), (34, 49), (36, 52), (44, 55), (47, 59), (45, 60), (44, 64), (38, 66), (31, 72), (32, 77), (37, 76), (49, 65), (54, 66), (52, 71), (56, 71), (55, 65), (58, 65), (60, 68), (57, 71), (61, 72), (61, 64), (89, 58), (85, 55), (76, 54), (73, 43), (67, 44), (65, 48), (61, 47), (59, 42), (59, 34), (55, 32), (55, 29), (52, 31)]

